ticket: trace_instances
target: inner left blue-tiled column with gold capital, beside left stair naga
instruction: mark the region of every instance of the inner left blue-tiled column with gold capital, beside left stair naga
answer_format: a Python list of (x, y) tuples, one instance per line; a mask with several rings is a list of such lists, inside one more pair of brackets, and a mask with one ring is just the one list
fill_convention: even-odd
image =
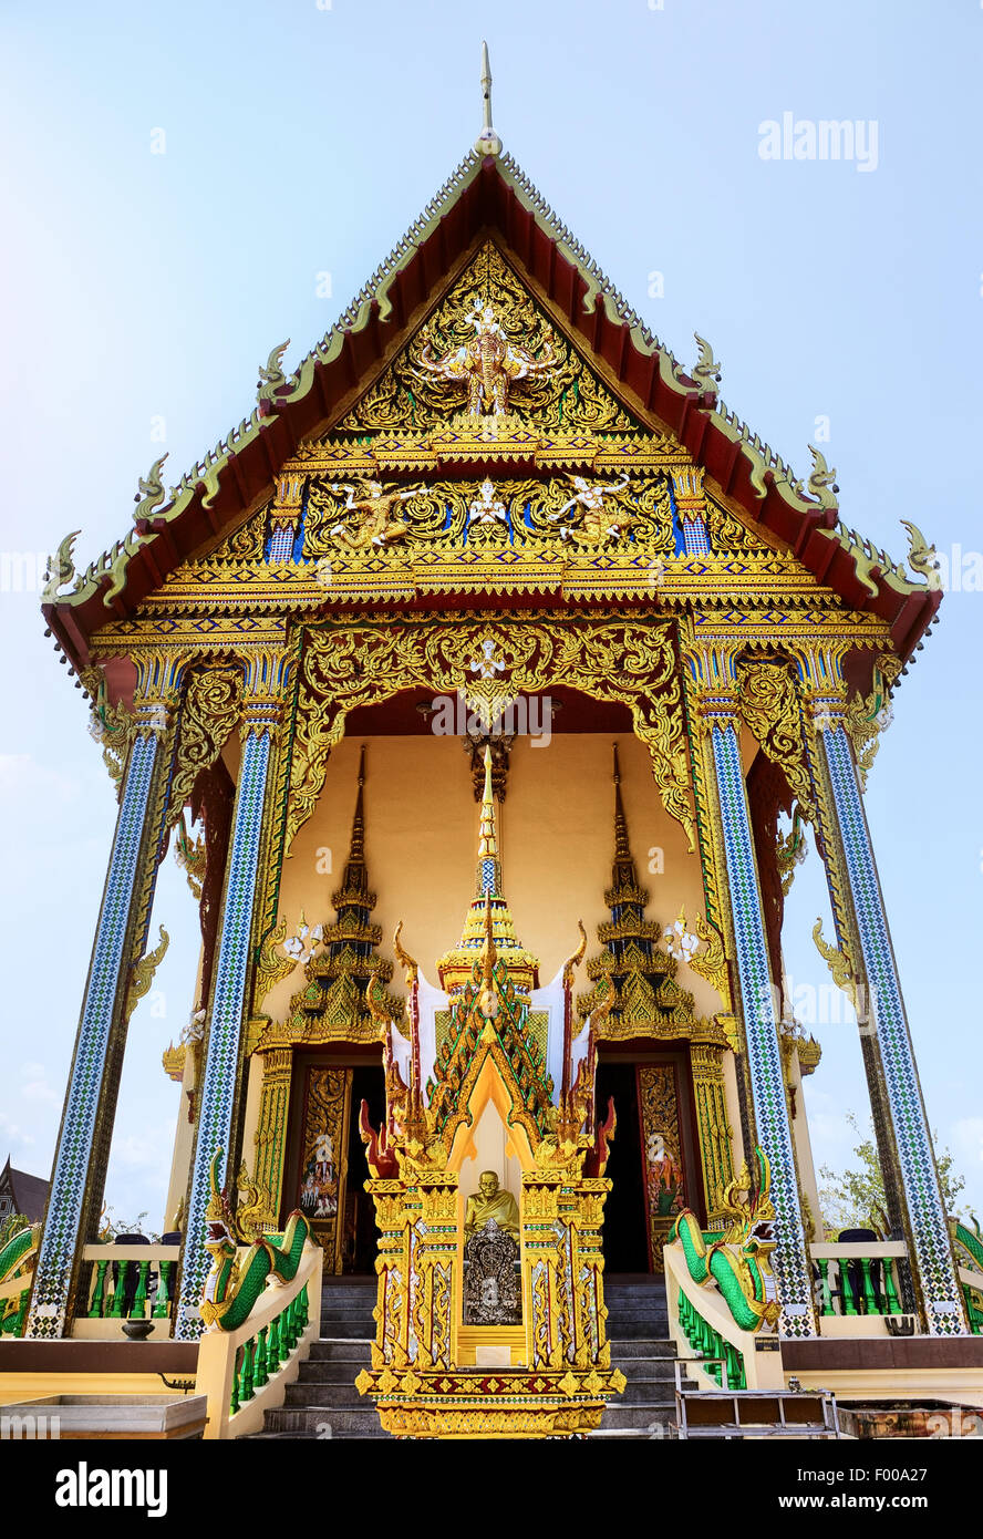
[(263, 833), (271, 822), (271, 760), (280, 746), (285, 656), (260, 654), (248, 663), (243, 693), (243, 757), (235, 788), (232, 839), (222, 906), (218, 960), (212, 977), (206, 1020), (205, 1070), (202, 1074), (198, 1128), (191, 1168), (185, 1219), (182, 1274), (177, 1288), (174, 1334), (197, 1340), (202, 1334), (200, 1302), (211, 1256), (205, 1248), (205, 1210), (211, 1197), (211, 1163), (222, 1150), (218, 1185), (231, 1174), (237, 1136), (243, 1065), (243, 1022), (251, 980), (254, 910)]

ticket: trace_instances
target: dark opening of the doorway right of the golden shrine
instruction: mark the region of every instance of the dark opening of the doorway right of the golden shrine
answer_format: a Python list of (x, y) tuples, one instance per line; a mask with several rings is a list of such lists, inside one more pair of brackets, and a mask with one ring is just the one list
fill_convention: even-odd
[(597, 1065), (597, 1114), (608, 1114), (614, 1096), (617, 1128), (605, 1174), (612, 1187), (605, 1203), (605, 1270), (648, 1271), (649, 1245), (645, 1217), (645, 1179), (638, 1133), (638, 1091), (634, 1063)]

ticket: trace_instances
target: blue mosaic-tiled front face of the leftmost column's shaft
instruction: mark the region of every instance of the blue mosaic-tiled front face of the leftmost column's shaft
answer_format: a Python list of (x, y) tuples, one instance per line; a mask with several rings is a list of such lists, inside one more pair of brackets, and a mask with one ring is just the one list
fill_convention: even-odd
[(83, 1197), (91, 1174), (95, 1117), (106, 1073), (112, 1007), (125, 965), (126, 931), (138, 877), (140, 845), (154, 777), (158, 739), (138, 737), (126, 771), (126, 786), (115, 825), (109, 876), (89, 983), (82, 1007), (75, 1060), (65, 1103), (55, 1168), (48, 1203), (48, 1222), (37, 1264), (34, 1299), (26, 1336), (58, 1337), (66, 1331), (72, 1267), (82, 1236)]

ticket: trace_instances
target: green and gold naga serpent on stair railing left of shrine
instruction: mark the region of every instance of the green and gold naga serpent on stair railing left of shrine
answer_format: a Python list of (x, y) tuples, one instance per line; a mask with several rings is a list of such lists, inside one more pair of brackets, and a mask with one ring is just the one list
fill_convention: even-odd
[[(246, 1193), (246, 1202), (232, 1213), (228, 1191), (218, 1190), (218, 1165), (223, 1153), (217, 1150), (211, 1163), (212, 1196), (205, 1210), (208, 1224), (205, 1248), (212, 1256), (212, 1270), (205, 1280), (202, 1319), (220, 1331), (235, 1331), (249, 1319), (269, 1277), (291, 1282), (297, 1276), (311, 1225), (303, 1213), (291, 1213), (282, 1245), (263, 1237), (258, 1233), (258, 1214), (266, 1207), (265, 1194), (249, 1180), (245, 1165), (238, 1173), (237, 1187)], [(242, 1259), (240, 1245), (249, 1245)]]

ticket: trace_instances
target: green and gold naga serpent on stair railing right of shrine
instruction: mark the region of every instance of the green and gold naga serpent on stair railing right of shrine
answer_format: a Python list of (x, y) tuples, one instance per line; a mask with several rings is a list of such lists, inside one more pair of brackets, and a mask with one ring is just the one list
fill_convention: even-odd
[(686, 1210), (672, 1225), (668, 1240), (672, 1244), (678, 1239), (694, 1282), (706, 1284), (712, 1279), (717, 1284), (743, 1331), (772, 1327), (781, 1313), (774, 1296), (769, 1260), (775, 1248), (771, 1237), (775, 1217), (769, 1197), (771, 1167), (760, 1148), (754, 1153), (757, 1179), (748, 1174), (745, 1163), (723, 1194), (721, 1207), (732, 1219), (729, 1228), (720, 1236), (711, 1236), (712, 1244), (708, 1245), (695, 1216)]

